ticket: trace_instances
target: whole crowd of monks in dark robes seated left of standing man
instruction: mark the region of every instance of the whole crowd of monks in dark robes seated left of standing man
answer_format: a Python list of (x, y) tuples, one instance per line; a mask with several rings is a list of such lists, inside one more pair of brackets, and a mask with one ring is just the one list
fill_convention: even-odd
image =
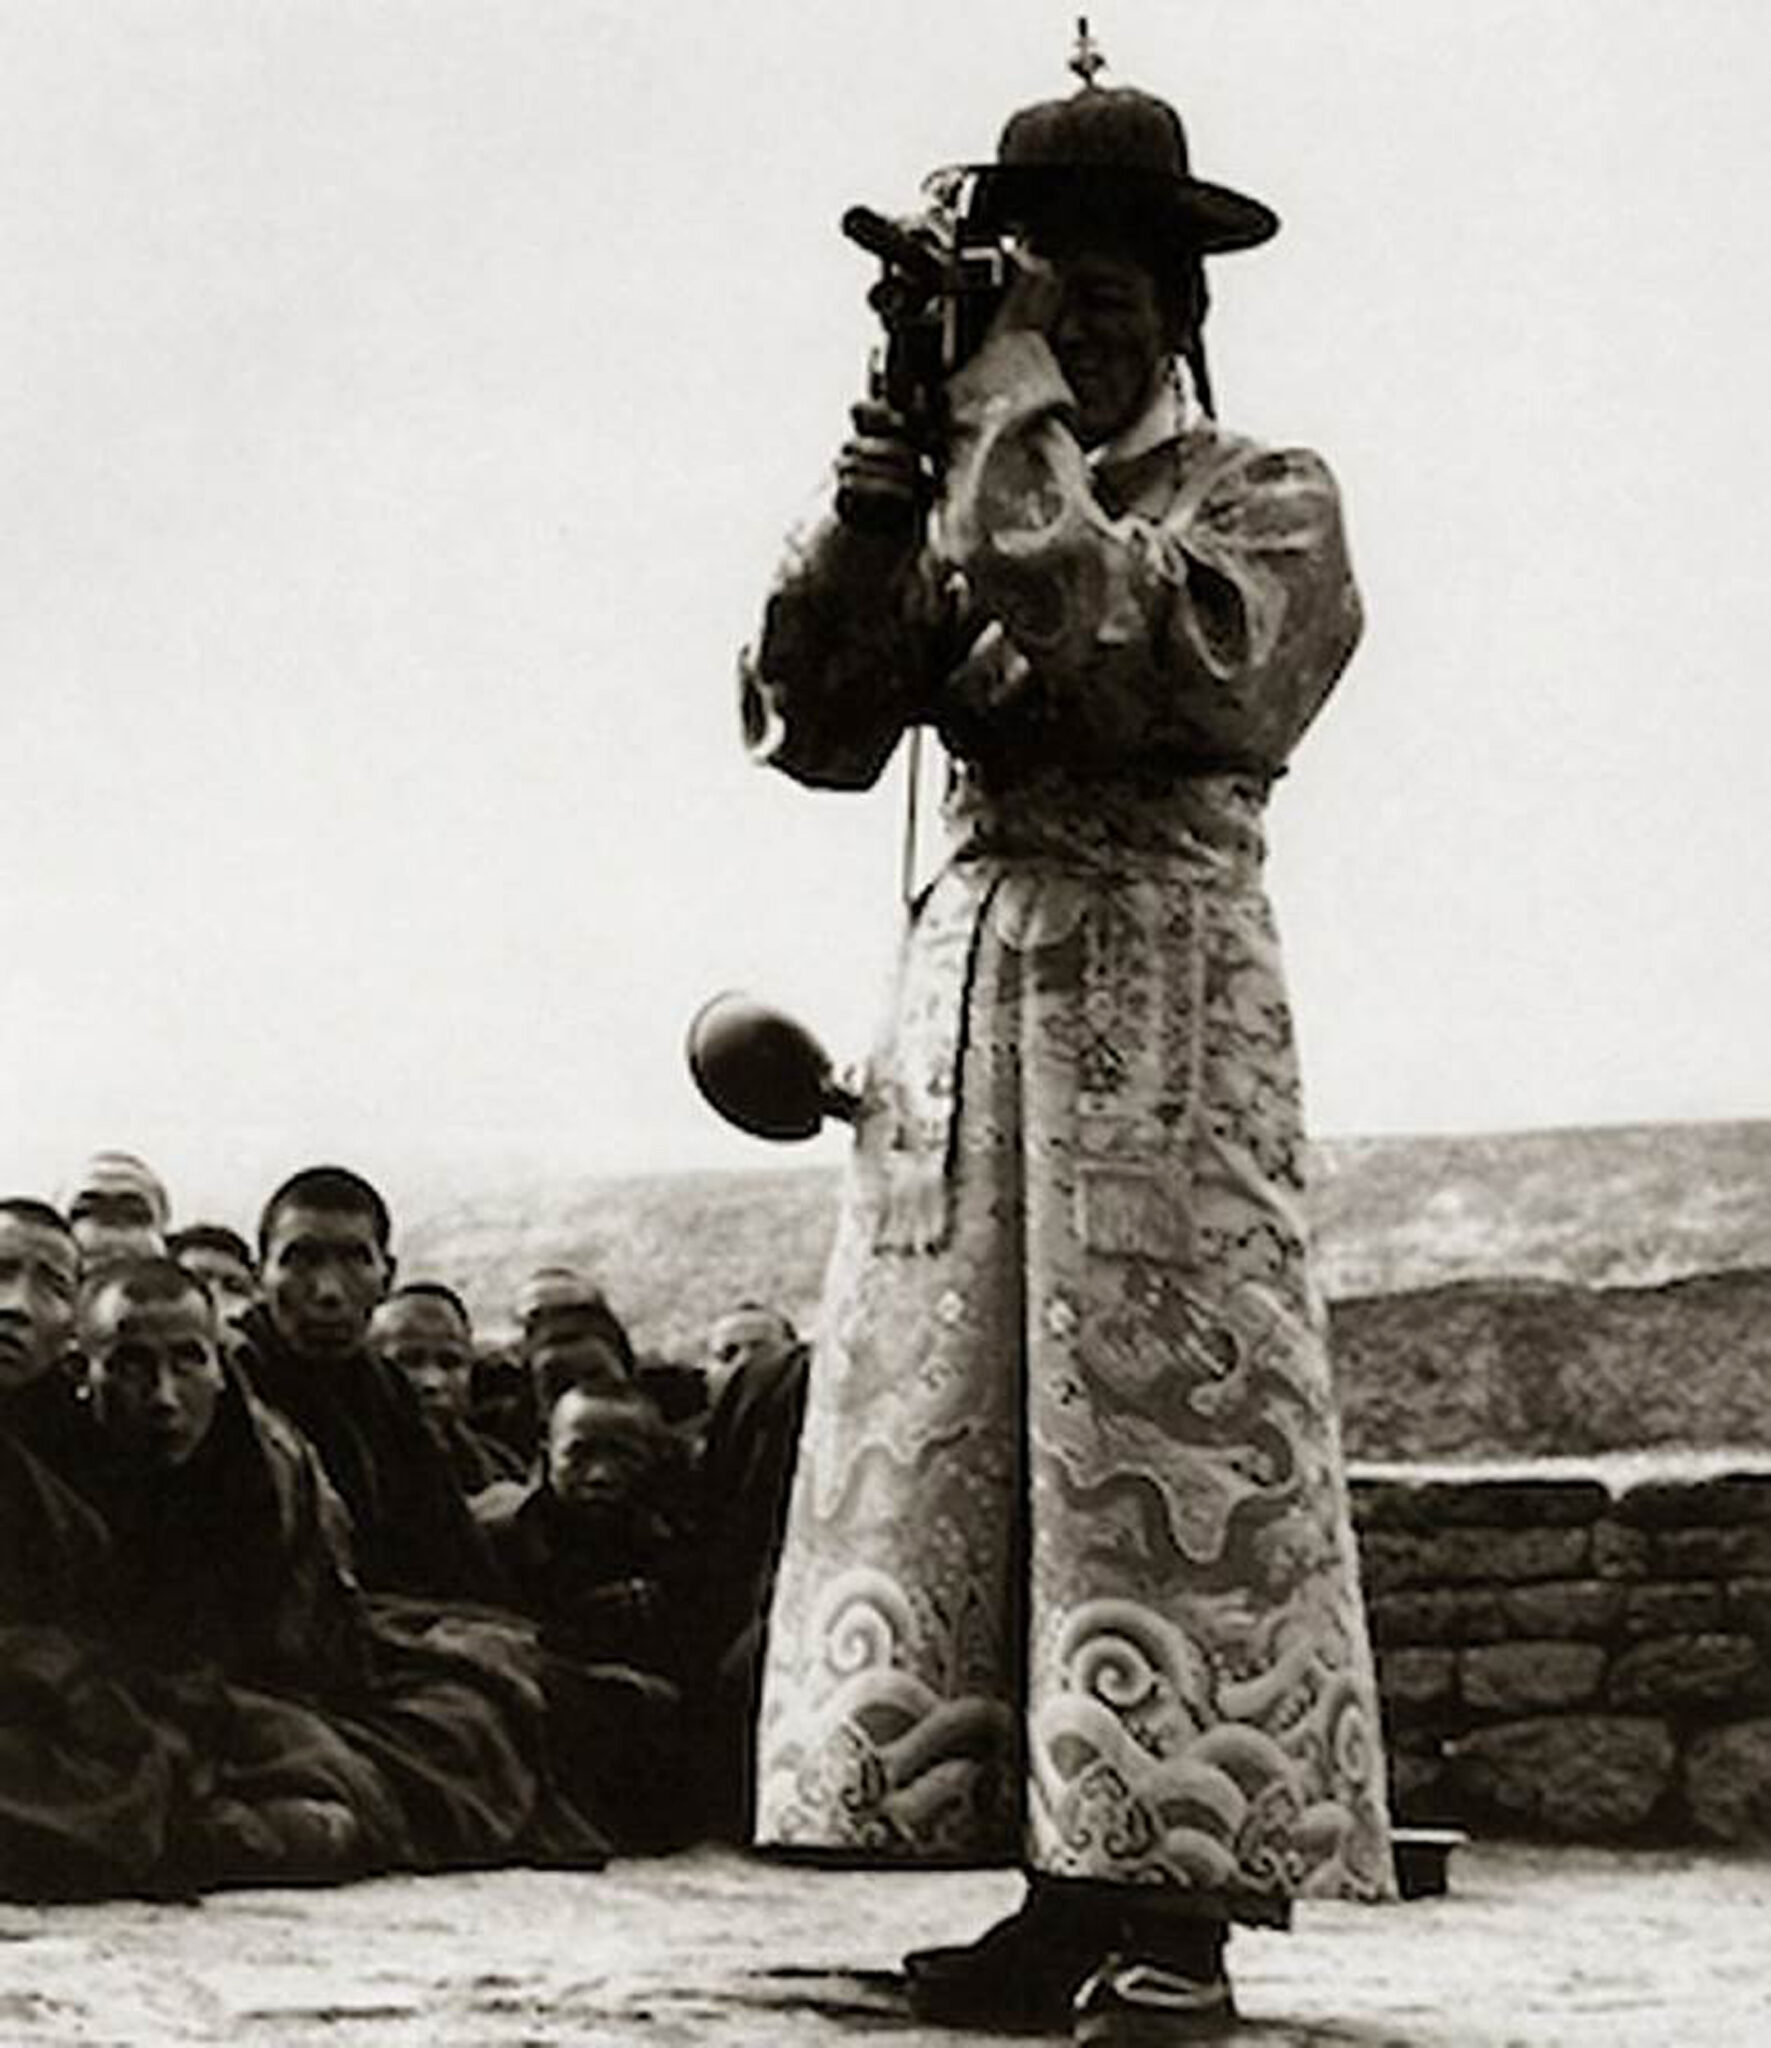
[(307, 1167), (258, 1243), (100, 1153), (0, 1200), (0, 1896), (735, 1839), (805, 1348), (538, 1270), (514, 1356)]

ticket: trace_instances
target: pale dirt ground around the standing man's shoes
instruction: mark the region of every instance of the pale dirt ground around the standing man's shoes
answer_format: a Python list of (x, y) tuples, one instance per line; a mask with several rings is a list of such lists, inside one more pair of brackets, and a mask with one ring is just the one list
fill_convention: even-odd
[[(1005, 1872), (813, 1872), (700, 1849), (192, 1907), (0, 1907), (0, 2044), (139, 2048), (964, 2048), (901, 1950), (964, 1939)], [(1757, 2048), (1771, 1858), (1476, 1843), (1443, 1898), (1239, 1931), (1249, 2048)], [(999, 2036), (997, 2036), (999, 2038)]]

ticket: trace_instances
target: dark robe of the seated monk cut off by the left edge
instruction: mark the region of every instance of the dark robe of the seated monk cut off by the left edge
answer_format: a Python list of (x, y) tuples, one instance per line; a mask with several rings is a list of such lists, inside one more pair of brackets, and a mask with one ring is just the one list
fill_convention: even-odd
[(0, 1432), (0, 1898), (164, 1888), (192, 1751), (109, 1647), (113, 1565), (92, 1509)]

